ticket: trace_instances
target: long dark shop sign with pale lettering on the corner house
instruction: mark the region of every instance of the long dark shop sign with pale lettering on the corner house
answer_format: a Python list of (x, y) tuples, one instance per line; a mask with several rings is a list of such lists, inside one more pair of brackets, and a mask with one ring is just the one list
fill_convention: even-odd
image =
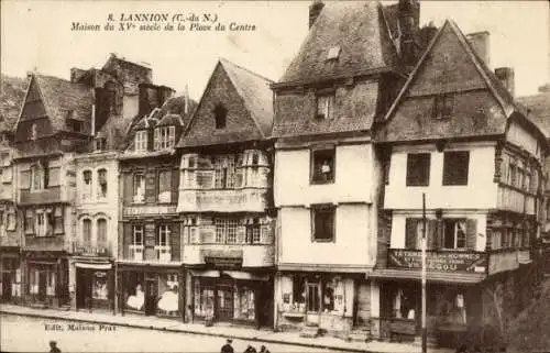
[[(422, 268), (421, 251), (397, 250), (388, 251), (388, 267)], [(426, 252), (426, 268), (439, 272), (483, 273), (486, 267), (486, 256), (476, 252)]]

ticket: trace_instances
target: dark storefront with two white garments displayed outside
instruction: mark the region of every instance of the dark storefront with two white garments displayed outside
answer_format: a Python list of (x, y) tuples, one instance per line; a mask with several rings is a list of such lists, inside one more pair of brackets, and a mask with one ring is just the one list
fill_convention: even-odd
[(182, 266), (131, 265), (119, 263), (119, 310), (182, 319), (184, 278)]

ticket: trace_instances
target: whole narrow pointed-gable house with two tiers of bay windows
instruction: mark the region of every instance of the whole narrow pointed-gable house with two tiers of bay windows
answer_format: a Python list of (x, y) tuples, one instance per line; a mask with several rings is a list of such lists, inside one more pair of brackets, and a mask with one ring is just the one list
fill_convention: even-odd
[(178, 143), (188, 320), (273, 324), (270, 84), (220, 59)]

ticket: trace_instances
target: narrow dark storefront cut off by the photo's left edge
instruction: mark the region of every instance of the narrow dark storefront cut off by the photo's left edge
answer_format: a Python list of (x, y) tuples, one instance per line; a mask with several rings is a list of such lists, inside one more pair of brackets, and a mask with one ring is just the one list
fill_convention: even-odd
[(21, 261), (19, 247), (2, 247), (0, 254), (0, 301), (19, 302), (21, 300)]

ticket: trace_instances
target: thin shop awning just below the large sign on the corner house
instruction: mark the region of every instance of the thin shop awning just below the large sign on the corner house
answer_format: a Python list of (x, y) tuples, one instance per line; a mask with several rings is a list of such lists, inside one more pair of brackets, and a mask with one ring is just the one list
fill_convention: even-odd
[[(420, 271), (380, 268), (367, 275), (371, 278), (381, 279), (421, 279)], [(476, 284), (485, 279), (484, 273), (447, 273), (447, 272), (428, 272), (428, 282), (435, 283), (457, 283), (457, 284)]]

